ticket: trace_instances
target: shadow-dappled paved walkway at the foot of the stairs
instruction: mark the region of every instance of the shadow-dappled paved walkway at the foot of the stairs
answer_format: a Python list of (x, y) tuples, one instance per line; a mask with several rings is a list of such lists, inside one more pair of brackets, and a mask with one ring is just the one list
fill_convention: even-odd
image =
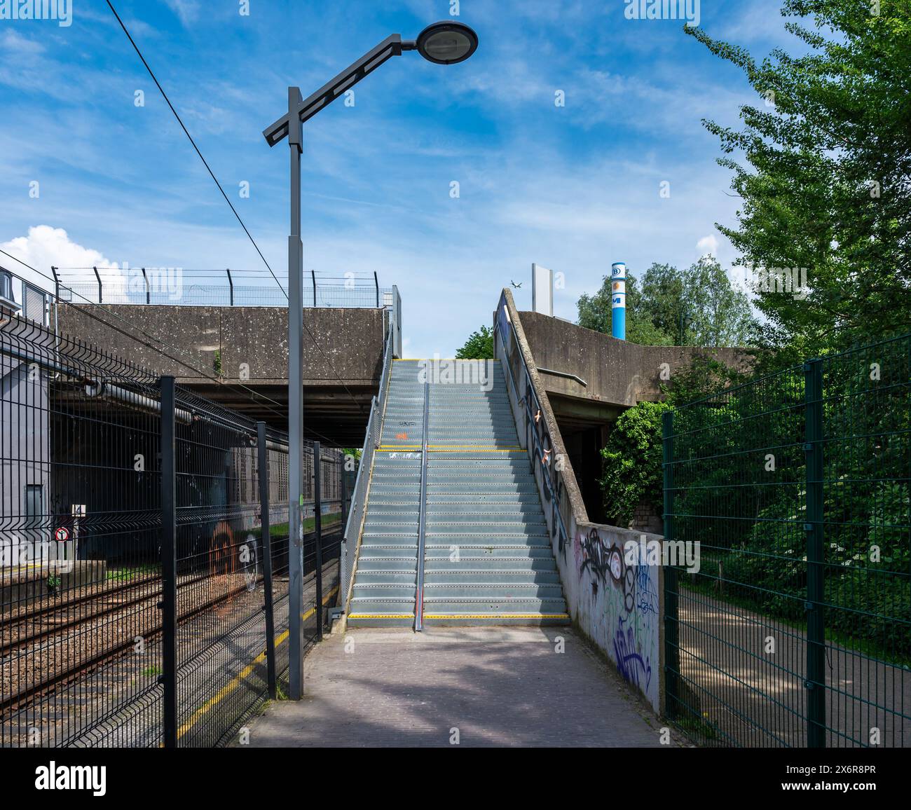
[(250, 744), (645, 747), (660, 727), (569, 628), (361, 629), (310, 652), (303, 700), (271, 703)]

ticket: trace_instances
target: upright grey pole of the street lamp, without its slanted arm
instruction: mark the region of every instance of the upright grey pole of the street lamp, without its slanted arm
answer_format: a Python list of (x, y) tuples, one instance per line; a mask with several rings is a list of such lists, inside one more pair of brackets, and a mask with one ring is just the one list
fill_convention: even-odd
[(292, 701), (302, 696), (303, 612), (303, 242), (301, 240), (301, 153), (303, 123), (297, 116), (301, 90), (288, 88), (288, 146), (291, 148), (291, 235), (288, 237), (288, 655)]

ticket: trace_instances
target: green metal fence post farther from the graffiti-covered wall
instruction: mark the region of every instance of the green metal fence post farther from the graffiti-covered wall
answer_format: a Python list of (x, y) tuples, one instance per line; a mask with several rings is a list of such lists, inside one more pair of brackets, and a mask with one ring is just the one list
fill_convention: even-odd
[(825, 747), (823, 361), (804, 363), (806, 406), (806, 711), (808, 748)]

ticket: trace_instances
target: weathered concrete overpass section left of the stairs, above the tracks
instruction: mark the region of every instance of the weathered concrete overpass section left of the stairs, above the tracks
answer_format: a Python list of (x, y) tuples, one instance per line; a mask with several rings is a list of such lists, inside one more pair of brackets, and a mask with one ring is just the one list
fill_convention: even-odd
[[(304, 436), (336, 446), (363, 444), (393, 312), (303, 310)], [(118, 328), (99, 323), (92, 313)], [(287, 308), (61, 303), (57, 323), (61, 333), (156, 374), (173, 375), (200, 395), (287, 429)], [(401, 345), (400, 320), (394, 328)], [(141, 333), (160, 336), (161, 342)]]

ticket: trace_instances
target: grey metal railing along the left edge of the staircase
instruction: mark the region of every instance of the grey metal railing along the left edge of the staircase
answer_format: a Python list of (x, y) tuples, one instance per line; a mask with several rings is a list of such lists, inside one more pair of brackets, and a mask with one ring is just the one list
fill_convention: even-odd
[(341, 581), (337, 606), (343, 610), (347, 610), (348, 600), (351, 597), (354, 565), (361, 540), (361, 528), (367, 507), (370, 477), (374, 468), (374, 453), (376, 448), (380, 446), (385, 397), (389, 386), (389, 375), (392, 373), (394, 337), (394, 324), (391, 324), (383, 350), (383, 372), (380, 374), (379, 393), (374, 396), (370, 404), (370, 418), (367, 421), (367, 432), (363, 439), (361, 460), (357, 467), (357, 477), (354, 481), (351, 503), (349, 504), (348, 519), (342, 536), (342, 549), (340, 552)]

